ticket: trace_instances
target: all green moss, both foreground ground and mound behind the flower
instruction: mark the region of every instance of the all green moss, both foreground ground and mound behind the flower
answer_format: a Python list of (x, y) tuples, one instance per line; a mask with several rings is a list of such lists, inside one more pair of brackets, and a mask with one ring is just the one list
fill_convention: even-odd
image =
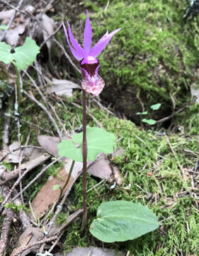
[[(129, 110), (133, 116), (136, 110), (140, 109), (140, 105), (132, 105), (125, 98), (122, 92), (127, 92), (127, 86), (130, 88), (128, 95), (140, 97), (146, 108), (153, 103), (161, 102), (166, 110), (174, 107), (171, 104), (172, 100), (176, 107), (186, 102), (189, 97), (189, 85), (198, 78), (193, 70), (198, 68), (199, 50), (196, 33), (198, 18), (191, 23), (183, 23), (186, 1), (115, 0), (110, 2), (106, 12), (101, 6), (104, 7), (107, 1), (85, 3), (93, 10), (90, 16), (96, 40), (106, 29), (112, 31), (122, 26), (120, 36), (113, 38), (106, 53), (102, 53), (100, 57), (101, 75), (107, 85), (104, 99), (109, 89), (113, 96), (115, 92), (119, 92), (122, 99), (127, 102), (123, 108), (119, 107), (120, 110)], [(96, 20), (98, 22), (95, 22)], [(99, 24), (103, 26), (98, 26)], [(69, 68), (66, 70), (65, 74), (63, 68), (66, 76), (71, 74)], [(111, 87), (113, 81), (115, 89)], [(24, 85), (24, 89), (29, 90), (29, 85)], [(40, 99), (37, 92), (34, 89), (32, 91), (33, 95)], [(73, 101), (81, 105), (79, 92), (74, 92), (72, 99), (64, 100), (65, 106), (57, 97), (46, 97), (55, 106), (66, 129), (72, 130), (82, 124), (81, 110), (72, 105)], [(124, 103), (124, 100), (118, 100), (118, 97), (115, 99), (117, 104)], [(106, 130), (123, 138), (118, 146), (122, 146), (125, 153), (113, 159), (113, 164), (121, 171), (123, 183), (121, 187), (116, 186), (113, 191), (110, 191), (108, 183), (89, 191), (87, 196), (90, 209), (86, 233), (82, 235), (79, 231), (80, 220), (72, 223), (64, 234), (64, 250), (70, 250), (78, 245), (94, 245), (111, 247), (126, 253), (130, 251), (130, 255), (136, 256), (199, 255), (198, 105), (191, 105), (178, 114), (176, 123), (183, 129), (177, 133), (169, 133), (159, 127), (148, 127), (144, 130), (131, 121), (110, 116), (91, 100), (89, 102), (93, 117), (96, 117)], [(38, 134), (45, 134), (23, 120), (38, 124), (42, 129), (57, 135), (47, 115), (33, 102), (23, 97), (21, 109), (22, 144), (25, 144), (29, 133), (29, 144), (33, 145), (38, 145)], [(90, 116), (87, 118), (90, 126), (96, 126), (96, 122)], [(0, 121), (3, 124), (4, 118)], [(0, 127), (2, 137), (3, 125)], [(11, 121), (11, 128), (10, 139), (13, 142), (17, 140), (18, 133), (14, 119)], [(48, 175), (56, 175), (59, 167), (59, 164), (52, 167), (45, 178)], [(183, 179), (182, 170), (186, 174), (186, 180)], [(39, 171), (40, 169), (32, 171), (25, 183)], [(34, 183), (25, 192), (27, 206), (28, 199), (35, 196), (43, 182), (44, 180), (40, 180)], [(88, 175), (88, 189), (97, 183), (98, 180)], [(71, 210), (82, 207), (81, 178), (76, 181), (70, 198), (74, 202)], [(127, 242), (103, 244), (96, 240), (89, 233), (89, 225), (95, 218), (100, 203), (110, 200), (127, 200), (149, 206), (159, 217), (159, 230)], [(59, 221), (63, 219), (64, 214), (62, 212), (62, 215), (59, 215)]]

